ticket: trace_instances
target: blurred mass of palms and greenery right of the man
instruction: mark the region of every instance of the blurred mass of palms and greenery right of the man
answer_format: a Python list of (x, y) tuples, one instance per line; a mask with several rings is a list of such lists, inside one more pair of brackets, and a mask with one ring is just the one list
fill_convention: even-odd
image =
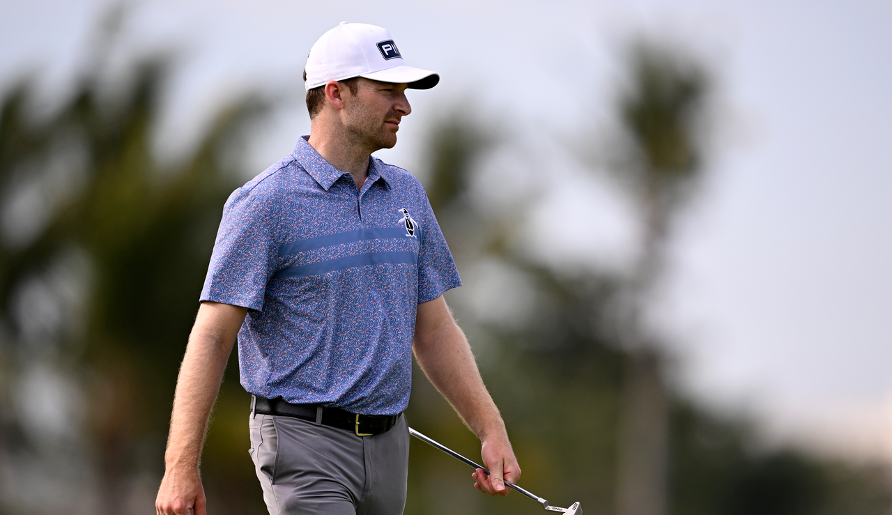
[[(625, 273), (554, 270), (516, 245), (530, 202), (493, 215), (475, 202), (475, 175), (510, 141), (499, 128), (444, 117), (431, 130), (425, 187), (463, 274), (481, 262), (493, 302), (527, 307), (490, 320), (461, 290), (446, 294), (479, 356), (483, 378), (506, 419), (524, 469), (520, 484), (555, 505), (586, 512), (647, 515), (888, 512), (883, 468), (825, 461), (789, 449), (762, 450), (746, 420), (722, 419), (674, 395), (663, 377), (659, 335), (642, 311), (665, 262), (673, 220), (704, 169), (706, 71), (664, 47), (630, 54), (630, 87), (617, 103), (623, 149), (616, 179), (640, 214), (640, 259)], [(467, 112), (462, 105), (455, 112)], [(512, 152), (516, 149), (510, 148)], [(516, 170), (503, 170), (516, 179)], [(538, 175), (549, 170), (538, 170)], [(541, 179), (541, 178), (540, 178)], [(489, 211), (487, 211), (489, 210)], [(478, 279), (486, 278), (477, 276)], [(473, 290), (476, 293), (480, 289)], [(475, 437), (419, 370), (408, 416), (413, 427), (474, 457)], [(489, 498), (471, 489), (470, 469), (412, 442), (406, 513), (534, 513), (530, 500)]]

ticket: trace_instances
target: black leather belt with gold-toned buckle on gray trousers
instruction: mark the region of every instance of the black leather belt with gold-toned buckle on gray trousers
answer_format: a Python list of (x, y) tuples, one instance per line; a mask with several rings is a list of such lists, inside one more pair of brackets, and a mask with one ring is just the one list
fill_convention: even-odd
[(340, 408), (326, 408), (318, 404), (286, 403), (282, 397), (265, 399), (251, 396), (252, 413), (267, 415), (283, 415), (295, 419), (309, 420), (316, 424), (346, 429), (356, 436), (372, 436), (386, 433), (392, 428), (400, 414), (397, 415), (360, 415)]

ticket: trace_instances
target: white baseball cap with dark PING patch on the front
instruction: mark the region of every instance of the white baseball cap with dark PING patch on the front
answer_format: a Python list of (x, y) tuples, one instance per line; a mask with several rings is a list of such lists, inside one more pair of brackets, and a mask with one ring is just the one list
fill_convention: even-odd
[(329, 80), (352, 77), (405, 82), (414, 89), (429, 89), (440, 82), (433, 71), (406, 66), (386, 29), (346, 21), (319, 37), (310, 49), (305, 71), (308, 91)]

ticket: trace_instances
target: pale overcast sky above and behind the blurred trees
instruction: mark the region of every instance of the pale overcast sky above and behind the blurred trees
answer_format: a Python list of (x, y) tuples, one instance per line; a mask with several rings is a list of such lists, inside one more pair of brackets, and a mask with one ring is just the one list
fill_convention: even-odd
[[(2, 0), (0, 87), (37, 71), (47, 98), (63, 91), (106, 4)], [(682, 387), (752, 412), (774, 434), (892, 461), (892, 3), (326, 5), (131, 3), (121, 53), (183, 51), (161, 144), (187, 140), (194, 120), (239, 91), (285, 93), (290, 107), (251, 158), (262, 170), (309, 132), (300, 75), (312, 43), (339, 21), (381, 25), (410, 65), (442, 75), (409, 97), (401, 144), (381, 157), (417, 167), (444, 105), (513, 127), (559, 169), (529, 221), (532, 245), (618, 266), (633, 246), (628, 207), (561, 142), (609, 124), (630, 37), (686, 47), (714, 70), (717, 121), (653, 311)], [(572, 232), (547, 223), (558, 208), (579, 220)]]

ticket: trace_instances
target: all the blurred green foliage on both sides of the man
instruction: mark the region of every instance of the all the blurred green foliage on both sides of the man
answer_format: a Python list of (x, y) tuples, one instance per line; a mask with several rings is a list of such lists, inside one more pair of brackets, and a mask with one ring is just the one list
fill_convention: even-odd
[[(653, 344), (643, 341), (640, 301), (660, 273), (673, 214), (703, 173), (706, 72), (656, 46), (630, 54), (629, 66), (637, 86), (616, 107), (625, 132), (615, 168), (638, 199), (646, 237), (627, 275), (550, 270), (512, 243), (522, 203), (500, 213), (475, 204), (473, 179), (483, 156), (503, 145), (499, 130), (446, 117), (425, 148), (426, 187), (459, 270), (489, 260), (533, 287), (532, 307), (508, 325), (447, 295), (481, 350), (521, 483), (555, 505), (581, 501), (590, 514), (615, 512), (624, 370), (630, 349)], [(153, 509), (178, 363), (222, 206), (244, 181), (235, 156), (269, 105), (245, 97), (224, 106), (192, 154), (163, 165), (151, 141), (169, 67), (134, 70), (111, 93), (100, 69), (89, 71), (48, 115), (34, 109), (30, 81), (0, 99), (0, 208), (12, 220), (0, 245), (0, 513)], [(13, 216), (16, 202), (27, 192), (37, 192), (31, 212), (44, 221), (16, 232), (24, 223)], [(60, 278), (82, 286), (66, 293)], [(44, 316), (53, 312), (61, 314)], [(41, 433), (23, 407), (61, 395), (22, 389), (38, 366), (79, 399), (79, 415), (62, 429)], [(479, 443), (420, 370), (413, 388), (413, 427), (475, 458)], [(885, 469), (765, 450), (743, 421), (667, 395), (673, 515), (866, 515), (892, 506)], [(211, 513), (265, 512), (247, 453), (248, 398), (234, 353), (202, 463)], [(540, 511), (519, 494), (479, 494), (471, 471), (413, 441), (406, 512)]]

